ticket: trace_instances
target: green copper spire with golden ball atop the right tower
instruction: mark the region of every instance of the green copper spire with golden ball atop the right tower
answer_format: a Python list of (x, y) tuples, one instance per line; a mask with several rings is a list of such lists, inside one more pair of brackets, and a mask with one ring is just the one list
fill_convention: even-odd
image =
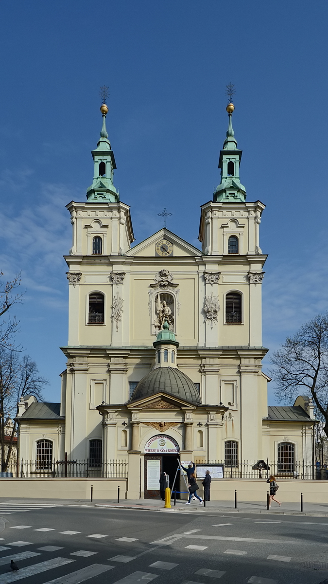
[(232, 127), (233, 103), (228, 103), (226, 111), (229, 115), (229, 126), (226, 133), (223, 149), (220, 152), (219, 168), (221, 169), (221, 183), (214, 191), (215, 203), (245, 203), (245, 186), (240, 183), (239, 166), (242, 150), (238, 150), (235, 132)]

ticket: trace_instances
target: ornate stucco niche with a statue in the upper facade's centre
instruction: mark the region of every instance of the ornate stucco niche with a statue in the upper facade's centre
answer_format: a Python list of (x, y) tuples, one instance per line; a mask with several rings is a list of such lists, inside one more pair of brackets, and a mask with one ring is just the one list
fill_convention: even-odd
[(150, 284), (149, 315), (152, 315), (152, 334), (157, 334), (168, 321), (170, 330), (175, 330), (176, 312), (179, 314), (179, 284), (173, 282), (173, 274), (169, 270), (159, 270), (155, 274), (155, 284)]

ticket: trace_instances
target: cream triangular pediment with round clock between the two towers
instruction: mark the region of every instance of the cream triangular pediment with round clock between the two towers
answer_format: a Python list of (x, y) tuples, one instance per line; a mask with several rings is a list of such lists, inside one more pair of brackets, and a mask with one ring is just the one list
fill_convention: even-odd
[(134, 248), (129, 249), (126, 256), (146, 256), (146, 257), (158, 257), (158, 259), (162, 259), (161, 256), (156, 255), (156, 244), (160, 242), (162, 239), (165, 239), (173, 246), (172, 255), (165, 256), (164, 259), (168, 259), (170, 257), (176, 256), (201, 256), (203, 255), (200, 249), (194, 247), (194, 245), (189, 244), (184, 239), (180, 238), (179, 235), (172, 233), (163, 227), (144, 241), (141, 241), (138, 245), (135, 245)]

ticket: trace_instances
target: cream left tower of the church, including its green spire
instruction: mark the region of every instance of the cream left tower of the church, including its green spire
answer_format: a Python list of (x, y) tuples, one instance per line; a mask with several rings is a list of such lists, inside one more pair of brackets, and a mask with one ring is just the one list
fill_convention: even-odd
[[(104, 366), (106, 349), (124, 344), (123, 329), (117, 326), (124, 304), (122, 259), (134, 241), (130, 207), (120, 201), (114, 187), (116, 162), (106, 129), (106, 103), (100, 111), (103, 124), (97, 147), (92, 150), (92, 185), (86, 192), (86, 201), (71, 201), (67, 205), (71, 213), (72, 247), (65, 256), (69, 282), (68, 346), (61, 348), (68, 363), (62, 374), (61, 415), (66, 420), (63, 450), (80, 460), (92, 453), (90, 440), (96, 450), (102, 439), (96, 405), (110, 401), (109, 371)], [(122, 377), (120, 368), (125, 369), (120, 361), (117, 357), (118, 378)]]

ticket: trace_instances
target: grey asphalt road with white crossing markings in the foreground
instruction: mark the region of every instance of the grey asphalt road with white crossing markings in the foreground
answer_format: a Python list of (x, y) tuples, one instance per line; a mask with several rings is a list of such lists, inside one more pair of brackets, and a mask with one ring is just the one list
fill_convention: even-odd
[(328, 582), (327, 518), (37, 503), (1, 504), (0, 516), (0, 584)]

